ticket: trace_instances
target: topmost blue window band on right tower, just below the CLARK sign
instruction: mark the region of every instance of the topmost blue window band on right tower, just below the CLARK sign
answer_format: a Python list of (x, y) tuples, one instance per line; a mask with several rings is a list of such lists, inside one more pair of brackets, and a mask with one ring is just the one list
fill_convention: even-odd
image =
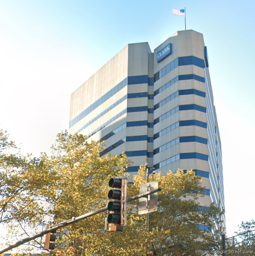
[(195, 56), (178, 57), (154, 74), (154, 82), (164, 77), (178, 66), (194, 65), (205, 68), (205, 61)]

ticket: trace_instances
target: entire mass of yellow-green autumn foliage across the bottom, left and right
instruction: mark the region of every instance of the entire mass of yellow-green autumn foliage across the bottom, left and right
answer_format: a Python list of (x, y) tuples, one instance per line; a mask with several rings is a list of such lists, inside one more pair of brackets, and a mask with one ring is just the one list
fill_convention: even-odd
[[(125, 154), (107, 154), (103, 158), (101, 143), (88, 142), (87, 137), (57, 135), (52, 154), (38, 158), (20, 153), (2, 131), (0, 136), (0, 213), (2, 222), (10, 225), (12, 236), (18, 226), (27, 236), (35, 227), (58, 223), (106, 205), (108, 180), (125, 175), (130, 161)], [(139, 194), (145, 184), (146, 165), (140, 166), (134, 183), (128, 185), (128, 196)], [(104, 230), (105, 214), (99, 214), (58, 230), (56, 249), (52, 255), (197, 255), (195, 250), (220, 248), (220, 210), (214, 204), (202, 207), (197, 199), (203, 195), (202, 178), (192, 171), (165, 176), (150, 175), (158, 180), (158, 212), (150, 213), (150, 230), (145, 215), (138, 215), (138, 202), (128, 204), (128, 226), (123, 232)], [(31, 233), (27, 227), (34, 227)], [(199, 228), (200, 227), (200, 228)], [(211, 230), (214, 229), (212, 233)], [(34, 242), (34, 245), (40, 240)]]

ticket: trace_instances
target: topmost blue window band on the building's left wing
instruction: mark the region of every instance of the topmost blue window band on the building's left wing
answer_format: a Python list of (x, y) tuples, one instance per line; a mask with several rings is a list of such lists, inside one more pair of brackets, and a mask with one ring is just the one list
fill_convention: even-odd
[(111, 90), (109, 90), (106, 94), (104, 94), (102, 97), (100, 97), (98, 100), (96, 100), (94, 103), (92, 103), (89, 107), (87, 107), (85, 110), (83, 110), (79, 115), (77, 115), (75, 118), (73, 118), (69, 122), (69, 128), (74, 126), (76, 123), (78, 123), (82, 118), (86, 117), (90, 112), (95, 110), (97, 107), (99, 107), (102, 103), (107, 101), (110, 97), (115, 95), (117, 92), (119, 92), (121, 89), (123, 89), (128, 84), (143, 84), (148, 83), (149, 86), (154, 85), (154, 78), (148, 77), (148, 75), (137, 75), (133, 77), (126, 77), (124, 80), (122, 80), (120, 83), (118, 83), (115, 87), (113, 87)]

